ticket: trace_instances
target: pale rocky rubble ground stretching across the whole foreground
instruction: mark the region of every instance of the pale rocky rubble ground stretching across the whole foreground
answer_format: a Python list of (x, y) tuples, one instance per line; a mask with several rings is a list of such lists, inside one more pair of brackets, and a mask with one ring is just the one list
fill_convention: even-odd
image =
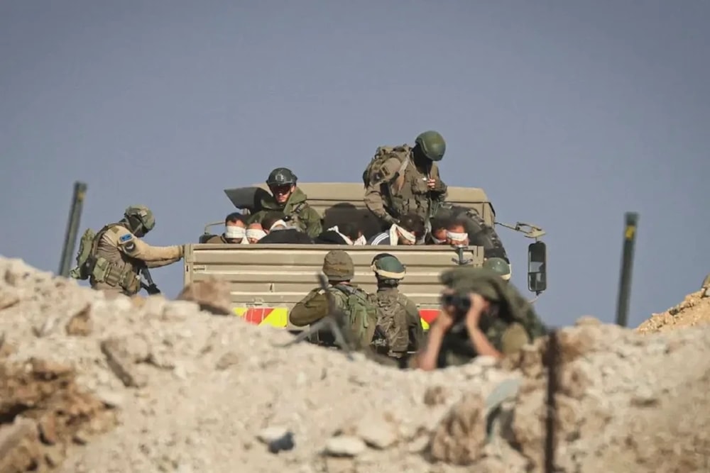
[[(650, 333), (700, 296), (562, 330), (558, 472), (710, 470), (710, 325)], [(547, 339), (423, 373), (290, 338), (0, 258), (0, 473), (542, 471)]]

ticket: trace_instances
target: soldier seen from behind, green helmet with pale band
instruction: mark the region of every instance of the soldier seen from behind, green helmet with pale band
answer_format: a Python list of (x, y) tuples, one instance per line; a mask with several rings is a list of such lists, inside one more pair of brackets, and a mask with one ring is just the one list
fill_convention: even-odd
[(377, 291), (371, 294), (380, 308), (377, 325), (387, 338), (387, 355), (403, 360), (422, 345), (424, 330), (417, 304), (399, 291), (406, 268), (394, 255), (380, 253), (372, 260)]

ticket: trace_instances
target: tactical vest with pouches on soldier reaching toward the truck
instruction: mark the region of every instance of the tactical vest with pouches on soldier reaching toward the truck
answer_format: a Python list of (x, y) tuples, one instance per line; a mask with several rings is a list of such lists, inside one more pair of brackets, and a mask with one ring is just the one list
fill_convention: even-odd
[(118, 247), (109, 249), (99, 247), (104, 234), (117, 226), (124, 227), (124, 224), (109, 223), (94, 237), (89, 255), (89, 282), (92, 286), (96, 283), (104, 283), (112, 287), (120, 287), (126, 294), (138, 294), (141, 290), (141, 279), (138, 275), (141, 262), (124, 255)]

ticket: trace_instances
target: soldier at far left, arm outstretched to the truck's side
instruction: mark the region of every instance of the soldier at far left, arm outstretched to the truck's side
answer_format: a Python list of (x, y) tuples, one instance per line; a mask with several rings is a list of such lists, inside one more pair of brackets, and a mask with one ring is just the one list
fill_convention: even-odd
[(151, 246), (141, 240), (153, 228), (155, 216), (151, 209), (134, 205), (126, 208), (120, 221), (99, 230), (88, 258), (92, 289), (132, 296), (141, 290), (139, 272), (143, 267), (162, 267), (180, 261), (182, 245)]

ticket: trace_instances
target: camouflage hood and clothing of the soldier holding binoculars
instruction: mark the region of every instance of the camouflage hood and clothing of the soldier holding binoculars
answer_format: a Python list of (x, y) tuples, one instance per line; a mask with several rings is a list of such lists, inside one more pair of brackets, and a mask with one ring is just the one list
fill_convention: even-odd
[[(518, 352), (524, 345), (547, 334), (547, 328), (532, 305), (504, 281), (500, 274), (487, 268), (460, 267), (449, 269), (440, 277), (442, 284), (457, 294), (476, 293), (493, 302), (497, 309), (481, 317), (480, 328), (491, 345), (503, 355)], [(476, 357), (476, 350), (466, 330), (449, 330), (444, 335), (437, 365), (463, 365)]]

